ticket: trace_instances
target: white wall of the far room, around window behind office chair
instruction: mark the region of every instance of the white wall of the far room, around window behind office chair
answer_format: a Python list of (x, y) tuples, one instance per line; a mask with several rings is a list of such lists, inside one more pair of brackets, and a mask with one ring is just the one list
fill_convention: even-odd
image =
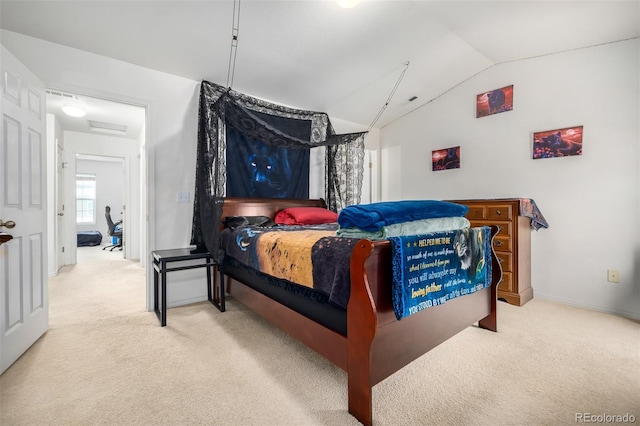
[[(111, 207), (111, 219), (123, 219), (124, 205), (124, 159), (114, 161), (76, 160), (76, 174), (90, 173), (96, 176), (96, 221), (92, 224), (77, 224), (78, 231), (100, 231), (102, 243), (111, 244), (109, 227), (105, 218), (105, 207)], [(137, 221), (136, 225), (137, 226)]]

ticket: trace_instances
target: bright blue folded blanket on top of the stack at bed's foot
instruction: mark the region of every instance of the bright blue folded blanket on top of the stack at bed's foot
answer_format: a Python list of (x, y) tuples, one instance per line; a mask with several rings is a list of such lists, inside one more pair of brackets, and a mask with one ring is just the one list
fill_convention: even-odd
[(469, 207), (439, 200), (384, 201), (371, 204), (354, 204), (345, 207), (338, 215), (342, 228), (360, 228), (376, 232), (383, 226), (438, 217), (461, 217)]

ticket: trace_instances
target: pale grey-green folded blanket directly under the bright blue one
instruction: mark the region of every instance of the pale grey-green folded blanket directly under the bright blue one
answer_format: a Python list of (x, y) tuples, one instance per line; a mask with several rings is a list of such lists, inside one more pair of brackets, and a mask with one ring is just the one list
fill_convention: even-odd
[(372, 241), (387, 240), (401, 235), (420, 235), (430, 232), (448, 231), (469, 228), (469, 220), (465, 217), (439, 217), (420, 219), (410, 222), (393, 223), (378, 231), (363, 231), (360, 228), (338, 228), (337, 235), (345, 238), (366, 238)]

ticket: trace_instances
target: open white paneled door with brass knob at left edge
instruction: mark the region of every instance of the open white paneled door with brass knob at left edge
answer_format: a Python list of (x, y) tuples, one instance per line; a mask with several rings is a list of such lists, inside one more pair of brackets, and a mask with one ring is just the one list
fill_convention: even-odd
[(49, 327), (45, 90), (2, 48), (0, 109), (0, 373)]

